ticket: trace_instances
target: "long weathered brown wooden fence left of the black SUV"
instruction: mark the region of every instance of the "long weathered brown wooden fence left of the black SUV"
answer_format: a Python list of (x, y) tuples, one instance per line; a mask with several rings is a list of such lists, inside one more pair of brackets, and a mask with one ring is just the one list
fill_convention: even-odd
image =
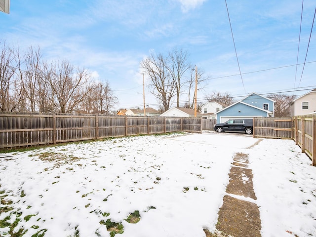
[(0, 114), (0, 149), (177, 131), (201, 133), (201, 118)]

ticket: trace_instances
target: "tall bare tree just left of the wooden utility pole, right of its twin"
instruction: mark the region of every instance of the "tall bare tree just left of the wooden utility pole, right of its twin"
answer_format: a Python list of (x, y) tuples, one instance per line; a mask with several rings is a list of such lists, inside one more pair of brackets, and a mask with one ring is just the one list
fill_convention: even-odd
[(169, 52), (169, 60), (167, 68), (170, 76), (174, 81), (175, 90), (177, 94), (177, 107), (179, 107), (179, 98), (182, 93), (182, 87), (186, 83), (185, 73), (190, 69), (190, 63), (188, 62), (188, 52), (177, 48)]

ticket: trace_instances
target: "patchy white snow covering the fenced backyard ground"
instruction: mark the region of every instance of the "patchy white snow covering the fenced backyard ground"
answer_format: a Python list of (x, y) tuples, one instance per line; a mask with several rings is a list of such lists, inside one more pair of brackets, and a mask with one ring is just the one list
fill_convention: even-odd
[[(245, 153), (257, 200), (238, 198), (259, 206), (262, 236), (316, 236), (316, 167), (292, 140), (261, 140), (252, 146), (259, 139), (203, 132), (11, 153), (0, 158), (0, 196), (14, 210), (0, 220), (22, 213), (15, 230), (28, 229), (25, 236), (109, 237), (100, 221), (111, 218), (123, 225), (118, 237), (205, 237), (203, 229), (215, 230), (233, 157)], [(141, 220), (128, 223), (135, 210)]]

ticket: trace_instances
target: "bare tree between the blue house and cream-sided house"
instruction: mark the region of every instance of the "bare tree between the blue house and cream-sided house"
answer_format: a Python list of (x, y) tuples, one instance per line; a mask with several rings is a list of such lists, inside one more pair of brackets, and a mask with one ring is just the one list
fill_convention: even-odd
[(275, 101), (275, 117), (286, 117), (291, 114), (291, 102), (295, 95), (271, 94), (267, 96)]

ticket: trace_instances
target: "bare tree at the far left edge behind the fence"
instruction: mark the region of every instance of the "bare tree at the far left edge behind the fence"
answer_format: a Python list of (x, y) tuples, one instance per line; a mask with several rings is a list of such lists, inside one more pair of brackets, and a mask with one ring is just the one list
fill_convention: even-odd
[(15, 67), (12, 66), (14, 54), (11, 48), (6, 46), (5, 42), (0, 50), (0, 111), (9, 112), (16, 107), (16, 103), (14, 103), (10, 95), (10, 87), (15, 73)]

